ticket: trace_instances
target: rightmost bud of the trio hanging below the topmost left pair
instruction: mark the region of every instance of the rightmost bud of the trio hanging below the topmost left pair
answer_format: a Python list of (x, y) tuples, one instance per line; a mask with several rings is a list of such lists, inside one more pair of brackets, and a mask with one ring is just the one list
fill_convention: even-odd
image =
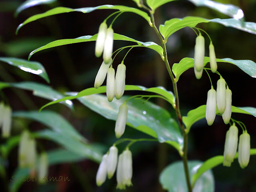
[(117, 66), (117, 70), (116, 70), (116, 79), (115, 79), (116, 99), (120, 99), (124, 94), (125, 70), (126, 70), (126, 66), (124, 65), (124, 62), (122, 61), (122, 63)]

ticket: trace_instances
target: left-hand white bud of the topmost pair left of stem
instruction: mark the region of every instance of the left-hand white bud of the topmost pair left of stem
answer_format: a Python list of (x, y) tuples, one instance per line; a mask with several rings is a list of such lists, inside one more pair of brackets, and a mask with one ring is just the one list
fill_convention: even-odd
[(107, 28), (108, 28), (108, 26), (107, 26), (106, 22), (103, 22), (102, 24), (100, 24), (99, 32), (98, 32), (98, 36), (97, 36), (97, 40), (96, 40), (96, 46), (95, 46), (95, 56), (96, 57), (100, 57), (103, 52)]

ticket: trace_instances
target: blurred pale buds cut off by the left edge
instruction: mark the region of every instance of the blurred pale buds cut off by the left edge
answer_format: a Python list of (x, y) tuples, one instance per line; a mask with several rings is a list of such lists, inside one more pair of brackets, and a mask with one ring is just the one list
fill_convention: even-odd
[(9, 137), (12, 126), (12, 109), (0, 103), (0, 128), (2, 127), (2, 137)]

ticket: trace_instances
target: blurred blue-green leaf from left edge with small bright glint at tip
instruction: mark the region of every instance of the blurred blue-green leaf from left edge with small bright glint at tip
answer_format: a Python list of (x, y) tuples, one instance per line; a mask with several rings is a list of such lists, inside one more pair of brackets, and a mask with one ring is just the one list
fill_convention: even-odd
[[(7, 87), (16, 87), (20, 89), (30, 90), (33, 91), (33, 94), (35, 96), (45, 98), (48, 100), (58, 100), (60, 98), (63, 98), (64, 95), (60, 94), (56, 90), (52, 89), (50, 86), (35, 83), (35, 82), (18, 82), (18, 83), (3, 83), (0, 82), (0, 90), (2, 88)], [(62, 104), (68, 106), (70, 109), (73, 109), (73, 103), (70, 100), (64, 100), (65, 102), (62, 102)]]

